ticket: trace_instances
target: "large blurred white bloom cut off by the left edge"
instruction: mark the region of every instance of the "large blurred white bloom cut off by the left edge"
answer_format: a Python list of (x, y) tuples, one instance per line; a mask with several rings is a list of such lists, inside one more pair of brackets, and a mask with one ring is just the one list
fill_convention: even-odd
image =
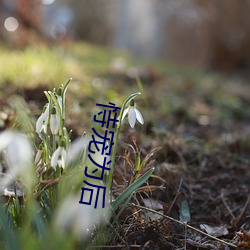
[(1, 179), (1, 186), (5, 187), (17, 177), (21, 177), (25, 184), (32, 183), (32, 146), (28, 138), (21, 133), (6, 130), (0, 133), (0, 153), (7, 163), (7, 172)]

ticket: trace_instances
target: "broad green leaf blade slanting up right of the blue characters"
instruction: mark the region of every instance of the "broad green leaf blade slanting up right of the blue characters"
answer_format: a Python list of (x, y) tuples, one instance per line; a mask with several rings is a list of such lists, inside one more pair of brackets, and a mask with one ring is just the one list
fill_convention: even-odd
[(126, 188), (113, 202), (113, 210), (115, 211), (122, 204), (122, 202), (127, 199), (127, 197), (129, 197), (137, 188), (139, 188), (151, 176), (154, 170), (154, 168), (149, 169), (143, 176), (138, 178), (138, 180)]

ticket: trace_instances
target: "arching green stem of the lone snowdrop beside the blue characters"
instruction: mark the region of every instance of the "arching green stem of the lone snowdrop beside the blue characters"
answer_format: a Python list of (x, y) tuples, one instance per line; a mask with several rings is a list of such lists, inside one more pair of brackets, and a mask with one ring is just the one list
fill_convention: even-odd
[(110, 194), (110, 203), (112, 202), (111, 186), (112, 186), (112, 179), (113, 179), (113, 173), (114, 173), (114, 168), (115, 168), (115, 156), (116, 156), (116, 152), (117, 152), (118, 138), (119, 138), (119, 133), (120, 133), (121, 124), (122, 124), (122, 115), (123, 115), (123, 112), (124, 112), (126, 105), (132, 99), (134, 99), (136, 96), (138, 96), (140, 94), (141, 94), (140, 92), (137, 92), (137, 93), (134, 93), (134, 94), (130, 95), (129, 97), (127, 97), (127, 99), (124, 101), (122, 108), (121, 108), (119, 122), (118, 122), (118, 125), (117, 125), (116, 130), (115, 130), (114, 148), (112, 151), (111, 167), (110, 167), (110, 172), (109, 172), (108, 181), (107, 181), (107, 193)]

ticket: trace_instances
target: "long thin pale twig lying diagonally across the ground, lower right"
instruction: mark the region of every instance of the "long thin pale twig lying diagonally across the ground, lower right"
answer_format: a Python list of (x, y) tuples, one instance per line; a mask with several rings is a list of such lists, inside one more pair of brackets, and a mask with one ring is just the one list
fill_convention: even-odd
[(226, 242), (226, 241), (224, 241), (224, 240), (218, 239), (218, 238), (216, 238), (216, 237), (214, 237), (214, 236), (212, 236), (212, 235), (209, 235), (209, 234), (207, 234), (207, 233), (205, 233), (205, 232), (203, 232), (203, 231), (201, 231), (201, 230), (199, 230), (199, 229), (197, 229), (197, 228), (195, 228), (195, 227), (192, 227), (192, 226), (188, 225), (186, 222), (178, 221), (178, 220), (176, 220), (176, 219), (173, 219), (173, 218), (170, 217), (170, 216), (167, 216), (167, 215), (165, 215), (165, 214), (162, 214), (162, 213), (160, 213), (160, 212), (157, 212), (157, 211), (155, 211), (155, 210), (153, 210), (153, 209), (150, 209), (150, 208), (147, 208), (147, 207), (144, 207), (144, 206), (141, 206), (141, 205), (136, 205), (136, 204), (134, 204), (134, 203), (132, 203), (132, 204), (130, 203), (130, 204), (128, 204), (128, 205), (134, 206), (134, 207), (137, 207), (137, 208), (141, 208), (141, 209), (145, 209), (145, 210), (150, 211), (150, 212), (152, 212), (152, 213), (161, 215), (161, 216), (163, 216), (163, 217), (165, 217), (165, 218), (167, 218), (167, 219), (169, 219), (169, 220), (171, 220), (171, 221), (174, 221), (174, 222), (176, 222), (176, 223), (178, 223), (178, 224), (180, 224), (180, 225), (182, 225), (182, 226), (186, 226), (186, 227), (188, 227), (189, 229), (192, 229), (192, 230), (194, 230), (194, 231), (196, 231), (196, 232), (198, 232), (198, 233), (200, 233), (200, 234), (203, 234), (203, 235), (205, 235), (205, 236), (207, 236), (207, 237), (209, 237), (209, 238), (211, 238), (211, 239), (213, 239), (213, 240), (219, 241), (219, 242), (221, 242), (221, 243), (223, 243), (223, 244), (226, 244), (226, 245), (228, 245), (228, 246), (230, 246), (230, 247), (237, 248), (236, 245), (234, 245), (234, 244), (232, 244), (232, 243), (229, 243), (229, 242)]

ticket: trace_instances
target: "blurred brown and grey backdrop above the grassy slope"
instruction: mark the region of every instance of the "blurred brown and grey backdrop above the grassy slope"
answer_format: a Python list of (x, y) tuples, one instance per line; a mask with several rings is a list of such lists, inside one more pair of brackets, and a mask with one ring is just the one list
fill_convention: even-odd
[(220, 71), (248, 71), (249, 0), (1, 0), (13, 47), (84, 40)]

